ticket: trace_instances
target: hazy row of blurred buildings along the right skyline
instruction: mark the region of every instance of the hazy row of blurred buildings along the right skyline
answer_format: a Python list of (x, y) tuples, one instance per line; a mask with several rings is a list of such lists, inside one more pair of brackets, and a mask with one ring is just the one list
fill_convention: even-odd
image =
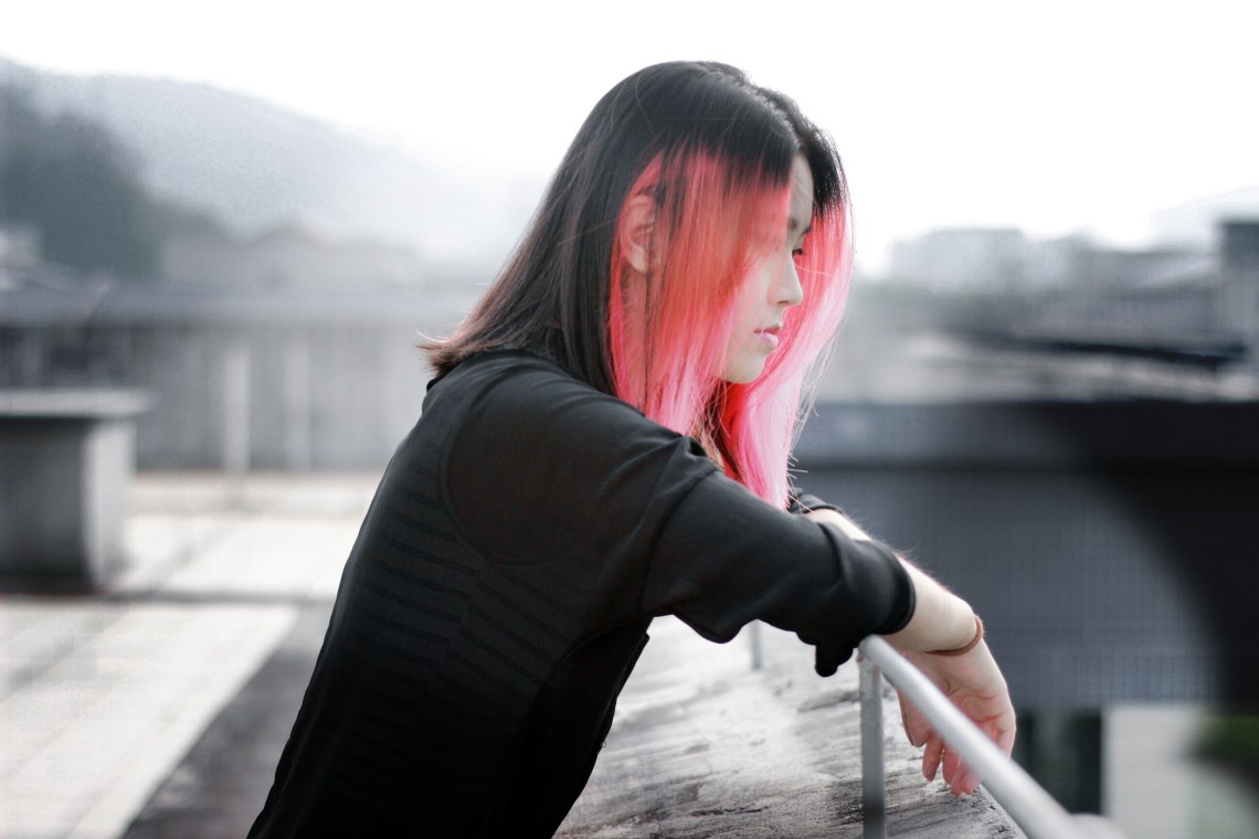
[(1254, 218), (1217, 221), (1212, 248), (938, 230), (899, 243), (891, 275), (939, 299), (969, 299), (953, 321), (972, 335), (1219, 366), (1259, 355), (1256, 243)]

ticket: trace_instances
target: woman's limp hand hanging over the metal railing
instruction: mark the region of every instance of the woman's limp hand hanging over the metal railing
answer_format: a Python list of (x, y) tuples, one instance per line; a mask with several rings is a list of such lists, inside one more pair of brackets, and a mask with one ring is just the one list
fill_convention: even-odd
[[(1001, 675), (988, 645), (980, 642), (974, 649), (962, 655), (933, 655), (932, 653), (903, 653), (922, 670), (944, 696), (953, 701), (962, 713), (997, 743), (1007, 756), (1015, 745), (1015, 709), (1010, 703), (1010, 691)], [(900, 718), (905, 735), (914, 746), (924, 746), (923, 777), (935, 780), (935, 772), (944, 766), (944, 782), (953, 795), (974, 792), (982, 780), (967, 767), (930, 727), (927, 718), (899, 691)]]

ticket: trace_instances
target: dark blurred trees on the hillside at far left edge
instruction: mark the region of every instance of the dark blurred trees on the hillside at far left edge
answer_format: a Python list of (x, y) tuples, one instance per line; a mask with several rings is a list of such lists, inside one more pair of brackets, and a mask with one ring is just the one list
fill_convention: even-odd
[(23, 92), (0, 88), (0, 220), (39, 230), (45, 259), (151, 278), (161, 218), (137, 161), (104, 128), (72, 113), (47, 117)]

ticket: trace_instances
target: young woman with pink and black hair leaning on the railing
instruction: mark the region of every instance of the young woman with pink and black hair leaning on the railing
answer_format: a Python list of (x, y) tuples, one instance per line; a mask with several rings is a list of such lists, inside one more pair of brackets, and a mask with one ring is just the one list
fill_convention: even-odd
[[(710, 63), (604, 96), (497, 283), (427, 347), (251, 835), (551, 835), (657, 615), (793, 630), (820, 673), (885, 634), (1008, 751), (971, 609), (788, 483), (850, 254), (838, 157), (787, 97)], [(974, 789), (905, 723), (928, 779)]]

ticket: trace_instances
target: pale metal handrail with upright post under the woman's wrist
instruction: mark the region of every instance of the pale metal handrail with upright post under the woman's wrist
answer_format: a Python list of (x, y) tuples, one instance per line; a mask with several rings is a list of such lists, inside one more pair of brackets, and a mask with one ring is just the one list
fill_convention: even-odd
[(867, 635), (859, 649), (862, 659), (859, 667), (865, 839), (883, 839), (886, 819), (880, 670), (927, 717), (962, 761), (985, 779), (985, 789), (1029, 839), (1122, 839), (1119, 831), (1104, 819), (1069, 814), (886, 640)]

